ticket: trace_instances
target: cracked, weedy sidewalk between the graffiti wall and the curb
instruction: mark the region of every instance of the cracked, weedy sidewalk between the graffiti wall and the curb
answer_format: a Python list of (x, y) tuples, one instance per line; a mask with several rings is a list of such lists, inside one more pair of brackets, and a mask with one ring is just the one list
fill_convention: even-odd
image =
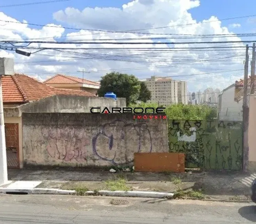
[(107, 189), (108, 180), (125, 178), (132, 190), (175, 192), (179, 190), (203, 190), (210, 196), (247, 196), (249, 187), (241, 180), (251, 174), (229, 171), (189, 171), (186, 173), (140, 173), (88, 170), (79, 168), (9, 169), (10, 180), (43, 181), (40, 188), (69, 189), (72, 186), (86, 186), (89, 190)]

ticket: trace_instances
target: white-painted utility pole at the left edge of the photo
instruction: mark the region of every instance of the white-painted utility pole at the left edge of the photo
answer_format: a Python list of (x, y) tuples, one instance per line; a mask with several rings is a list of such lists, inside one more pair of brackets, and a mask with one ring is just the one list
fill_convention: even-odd
[(0, 75), (0, 185), (8, 182), (7, 158), (3, 120), (2, 75)]

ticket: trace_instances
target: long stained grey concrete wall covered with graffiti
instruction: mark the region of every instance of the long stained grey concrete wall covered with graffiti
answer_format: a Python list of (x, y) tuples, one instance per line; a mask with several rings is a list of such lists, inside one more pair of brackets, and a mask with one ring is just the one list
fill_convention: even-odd
[(23, 157), (30, 165), (130, 164), (135, 152), (167, 152), (167, 120), (132, 114), (23, 113)]

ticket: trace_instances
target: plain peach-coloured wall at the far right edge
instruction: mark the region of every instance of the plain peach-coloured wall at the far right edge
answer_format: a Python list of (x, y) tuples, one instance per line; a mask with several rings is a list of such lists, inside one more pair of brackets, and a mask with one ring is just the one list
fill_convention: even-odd
[(248, 127), (248, 146), (249, 146), (249, 163), (248, 170), (256, 172), (256, 95), (250, 96), (249, 107), (249, 127)]

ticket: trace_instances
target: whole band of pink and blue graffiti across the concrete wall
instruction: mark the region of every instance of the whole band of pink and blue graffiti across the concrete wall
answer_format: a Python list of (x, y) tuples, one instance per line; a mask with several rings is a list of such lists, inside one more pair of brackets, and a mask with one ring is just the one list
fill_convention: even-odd
[(39, 135), (25, 147), (25, 154), (34, 161), (41, 156), (66, 163), (88, 164), (89, 159), (121, 165), (133, 162), (134, 153), (152, 152), (153, 147), (151, 131), (142, 122), (116, 120), (100, 127), (55, 125), (35, 129)]

